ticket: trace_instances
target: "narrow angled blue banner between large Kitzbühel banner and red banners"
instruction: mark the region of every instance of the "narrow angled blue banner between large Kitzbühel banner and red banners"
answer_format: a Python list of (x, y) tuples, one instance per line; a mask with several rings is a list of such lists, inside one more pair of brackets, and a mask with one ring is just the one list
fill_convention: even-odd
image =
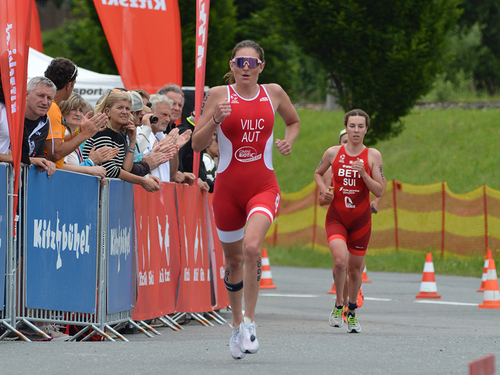
[(108, 314), (132, 308), (134, 185), (109, 181)]

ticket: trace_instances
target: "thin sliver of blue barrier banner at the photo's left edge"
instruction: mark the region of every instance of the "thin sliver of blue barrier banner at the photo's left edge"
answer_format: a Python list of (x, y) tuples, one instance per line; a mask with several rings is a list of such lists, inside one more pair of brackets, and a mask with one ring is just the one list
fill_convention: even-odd
[(0, 311), (5, 307), (5, 262), (7, 261), (7, 166), (0, 164)]

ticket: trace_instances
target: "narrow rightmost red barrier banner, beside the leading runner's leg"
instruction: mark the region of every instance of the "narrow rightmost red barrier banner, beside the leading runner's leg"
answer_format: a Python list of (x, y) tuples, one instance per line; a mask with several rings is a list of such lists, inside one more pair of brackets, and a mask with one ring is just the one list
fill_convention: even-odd
[(208, 246), (212, 264), (212, 284), (215, 292), (214, 309), (219, 310), (229, 306), (229, 297), (227, 295), (226, 286), (224, 285), (226, 258), (224, 257), (224, 250), (222, 249), (215, 226), (212, 194), (208, 194), (207, 206)]

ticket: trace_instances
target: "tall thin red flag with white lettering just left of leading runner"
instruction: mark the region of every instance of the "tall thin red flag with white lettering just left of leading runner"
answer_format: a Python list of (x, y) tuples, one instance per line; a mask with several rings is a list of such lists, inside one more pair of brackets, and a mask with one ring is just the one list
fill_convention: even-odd
[[(201, 112), (201, 103), (205, 94), (205, 67), (207, 63), (208, 16), (210, 13), (210, 0), (196, 1), (196, 72), (195, 72), (195, 124)], [(193, 172), (198, 178), (200, 153), (194, 152)]]

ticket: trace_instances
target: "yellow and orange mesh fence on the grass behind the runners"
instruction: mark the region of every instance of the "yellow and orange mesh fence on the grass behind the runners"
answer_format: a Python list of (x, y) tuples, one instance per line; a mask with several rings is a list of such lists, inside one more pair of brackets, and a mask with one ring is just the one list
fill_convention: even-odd
[[(282, 194), (265, 243), (329, 251), (327, 209), (318, 204), (314, 182), (299, 192)], [(500, 192), (487, 186), (455, 194), (445, 182), (415, 186), (389, 181), (379, 211), (372, 215), (371, 250), (435, 249), (442, 256), (483, 256), (488, 248), (500, 248)]]

